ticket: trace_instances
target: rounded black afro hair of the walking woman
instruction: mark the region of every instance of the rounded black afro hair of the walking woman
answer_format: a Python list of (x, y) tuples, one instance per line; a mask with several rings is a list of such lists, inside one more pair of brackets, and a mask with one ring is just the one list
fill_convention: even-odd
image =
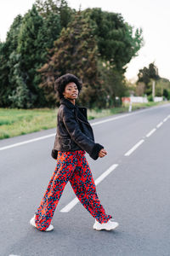
[(79, 79), (77, 79), (75, 75), (71, 73), (66, 73), (65, 75), (55, 80), (54, 90), (58, 92), (59, 99), (62, 99), (64, 97), (63, 92), (65, 91), (65, 86), (71, 82), (77, 84), (77, 89), (80, 93), (80, 91), (82, 90), (82, 82)]

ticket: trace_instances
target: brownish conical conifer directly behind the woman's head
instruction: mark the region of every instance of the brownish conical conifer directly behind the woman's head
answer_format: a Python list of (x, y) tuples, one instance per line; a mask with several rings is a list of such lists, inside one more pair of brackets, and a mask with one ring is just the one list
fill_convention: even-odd
[(42, 84), (48, 104), (55, 106), (54, 79), (65, 73), (74, 73), (82, 79), (82, 104), (92, 107), (98, 100), (97, 44), (93, 24), (88, 15), (78, 12), (69, 26), (63, 28), (54, 43), (53, 55), (41, 69)]

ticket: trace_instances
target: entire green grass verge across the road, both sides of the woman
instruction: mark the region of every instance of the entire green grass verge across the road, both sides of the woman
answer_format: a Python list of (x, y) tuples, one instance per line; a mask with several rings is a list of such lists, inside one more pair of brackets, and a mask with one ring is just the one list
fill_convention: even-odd
[[(165, 102), (149, 102), (143, 104), (133, 104), (133, 110), (148, 108), (160, 105)], [(0, 108), (0, 139), (15, 137), (34, 131), (47, 130), (56, 127), (56, 117), (58, 109), (11, 109)], [(88, 109), (88, 119), (97, 119), (110, 116), (115, 113), (128, 111), (128, 104), (122, 108), (111, 109)]]

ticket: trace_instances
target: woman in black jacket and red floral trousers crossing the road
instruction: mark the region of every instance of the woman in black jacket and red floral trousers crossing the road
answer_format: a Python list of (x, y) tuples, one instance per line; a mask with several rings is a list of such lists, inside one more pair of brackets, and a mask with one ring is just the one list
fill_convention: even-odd
[(52, 156), (57, 159), (57, 166), (30, 223), (38, 230), (54, 229), (50, 223), (65, 184), (70, 181), (83, 207), (95, 218), (94, 230), (114, 230), (118, 223), (110, 220), (111, 215), (107, 215), (100, 204), (94, 178), (84, 155), (88, 152), (97, 160), (98, 157), (104, 157), (107, 152), (102, 145), (94, 143), (94, 133), (88, 123), (87, 109), (76, 105), (82, 83), (76, 76), (67, 73), (55, 81), (54, 88), (60, 98), (57, 133), (52, 150)]

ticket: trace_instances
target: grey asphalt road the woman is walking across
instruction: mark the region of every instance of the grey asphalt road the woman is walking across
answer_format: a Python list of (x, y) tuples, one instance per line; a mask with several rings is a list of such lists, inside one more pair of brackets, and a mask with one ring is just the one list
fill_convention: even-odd
[(0, 141), (0, 256), (170, 255), (170, 104), (91, 123), (108, 155), (94, 161), (86, 154), (88, 163), (95, 180), (111, 171), (97, 192), (119, 227), (93, 230), (94, 218), (80, 202), (61, 212), (75, 198), (70, 183), (54, 213), (54, 231), (31, 227), (56, 165), (50, 157), (55, 129), (5, 139)]

